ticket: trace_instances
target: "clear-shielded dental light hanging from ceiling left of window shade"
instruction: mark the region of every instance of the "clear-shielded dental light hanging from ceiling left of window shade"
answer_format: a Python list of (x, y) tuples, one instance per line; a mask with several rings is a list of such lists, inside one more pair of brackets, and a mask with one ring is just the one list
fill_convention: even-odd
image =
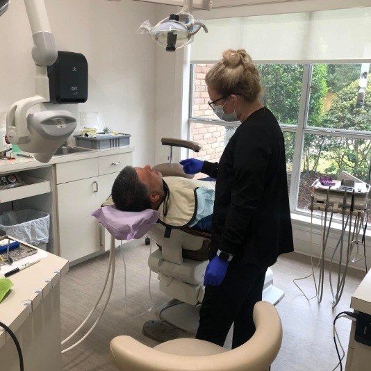
[(207, 33), (207, 27), (195, 20), (192, 16), (192, 0), (185, 0), (184, 6), (179, 13), (171, 14), (164, 18), (156, 26), (151, 26), (149, 21), (142, 23), (137, 33), (149, 33), (160, 47), (167, 51), (175, 51), (185, 47), (193, 41), (193, 36), (201, 29)]

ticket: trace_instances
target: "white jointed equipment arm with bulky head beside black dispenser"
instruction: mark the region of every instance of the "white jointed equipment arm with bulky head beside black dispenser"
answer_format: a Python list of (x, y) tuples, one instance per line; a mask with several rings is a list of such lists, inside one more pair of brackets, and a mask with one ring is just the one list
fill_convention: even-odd
[(10, 106), (6, 115), (6, 133), (13, 145), (18, 145), (22, 151), (33, 153), (36, 160), (47, 163), (56, 149), (73, 133), (76, 119), (72, 113), (65, 110), (49, 110), (27, 115), (32, 106), (50, 101), (47, 66), (56, 61), (58, 51), (44, 0), (24, 0), (24, 5), (34, 43), (32, 58), (36, 65), (35, 96)]

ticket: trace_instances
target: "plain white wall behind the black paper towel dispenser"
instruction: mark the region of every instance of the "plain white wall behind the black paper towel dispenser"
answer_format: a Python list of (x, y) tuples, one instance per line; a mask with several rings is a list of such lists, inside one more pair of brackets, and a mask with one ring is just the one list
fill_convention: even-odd
[[(98, 111), (105, 124), (130, 133), (134, 165), (154, 159), (156, 49), (135, 31), (158, 21), (158, 6), (122, 0), (45, 0), (58, 50), (83, 53), (89, 65), (85, 104), (46, 104), (47, 109)], [(11, 1), (0, 19), (0, 124), (15, 101), (35, 94), (31, 28), (24, 1)]]

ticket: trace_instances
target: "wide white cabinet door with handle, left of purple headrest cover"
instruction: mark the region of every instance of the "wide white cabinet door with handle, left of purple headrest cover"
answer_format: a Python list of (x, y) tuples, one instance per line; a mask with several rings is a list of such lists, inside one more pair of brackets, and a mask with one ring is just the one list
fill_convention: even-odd
[(99, 224), (91, 213), (104, 201), (99, 177), (58, 184), (60, 256), (70, 262), (99, 252)]

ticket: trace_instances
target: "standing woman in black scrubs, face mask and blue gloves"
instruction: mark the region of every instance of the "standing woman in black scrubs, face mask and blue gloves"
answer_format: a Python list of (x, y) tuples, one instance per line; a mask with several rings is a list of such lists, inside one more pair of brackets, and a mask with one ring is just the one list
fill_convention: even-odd
[(283, 134), (261, 104), (261, 76), (243, 49), (224, 51), (206, 74), (209, 105), (226, 122), (240, 121), (220, 163), (188, 158), (187, 174), (216, 179), (211, 260), (196, 338), (223, 346), (234, 322), (232, 348), (255, 331), (267, 267), (293, 251)]

